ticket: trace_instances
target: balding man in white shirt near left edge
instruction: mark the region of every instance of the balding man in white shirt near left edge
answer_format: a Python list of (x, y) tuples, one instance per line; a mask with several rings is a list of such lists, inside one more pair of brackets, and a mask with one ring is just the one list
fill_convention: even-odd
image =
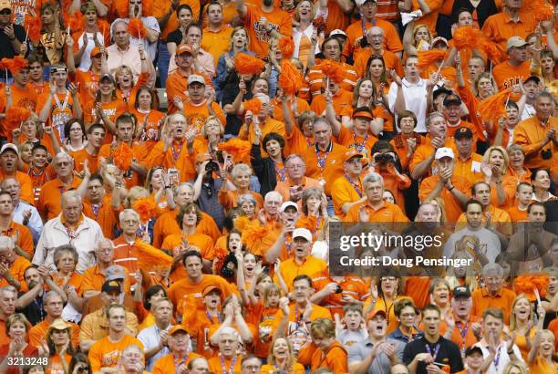
[(26, 226), (33, 235), (33, 243), (38, 242), (43, 232), (43, 221), (36, 207), (21, 200), (21, 186), (13, 177), (5, 178), (0, 184), (3, 191), (9, 192), (14, 203), (13, 220)]

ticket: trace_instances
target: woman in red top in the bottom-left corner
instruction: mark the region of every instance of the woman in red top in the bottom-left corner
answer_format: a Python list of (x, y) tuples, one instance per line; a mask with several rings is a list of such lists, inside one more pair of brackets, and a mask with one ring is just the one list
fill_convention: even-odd
[[(31, 324), (27, 321), (25, 315), (15, 313), (7, 317), (5, 321), (5, 332), (8, 344), (0, 346), (0, 371), (6, 374), (19, 374), (19, 368), (11, 366), (8, 368), (8, 362), (5, 358), (16, 357), (18, 354), (24, 357), (39, 356), (36, 347), (27, 343), (27, 334), (29, 333)], [(41, 352), (42, 353), (42, 352)]]

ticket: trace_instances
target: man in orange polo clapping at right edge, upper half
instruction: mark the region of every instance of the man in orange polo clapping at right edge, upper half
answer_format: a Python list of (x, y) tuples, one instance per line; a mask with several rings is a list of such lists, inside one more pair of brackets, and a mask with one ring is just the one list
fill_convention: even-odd
[(525, 151), (526, 168), (551, 170), (558, 163), (558, 118), (553, 117), (553, 96), (542, 91), (535, 109), (536, 116), (523, 120), (513, 130), (513, 140)]

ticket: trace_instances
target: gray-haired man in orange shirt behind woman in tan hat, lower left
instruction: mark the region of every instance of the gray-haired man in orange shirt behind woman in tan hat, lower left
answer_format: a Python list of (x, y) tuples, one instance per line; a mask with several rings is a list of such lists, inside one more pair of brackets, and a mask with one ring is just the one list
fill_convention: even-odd
[[(47, 292), (47, 295), (43, 297), (43, 301), (45, 302), (47, 317), (45, 317), (42, 322), (29, 329), (29, 344), (35, 347), (40, 347), (41, 340), (47, 336), (48, 328), (57, 318), (62, 317), (62, 310), (64, 309), (64, 300), (56, 291)], [(66, 321), (66, 323), (72, 327), (72, 344), (74, 347), (78, 347), (79, 327), (72, 322)]]

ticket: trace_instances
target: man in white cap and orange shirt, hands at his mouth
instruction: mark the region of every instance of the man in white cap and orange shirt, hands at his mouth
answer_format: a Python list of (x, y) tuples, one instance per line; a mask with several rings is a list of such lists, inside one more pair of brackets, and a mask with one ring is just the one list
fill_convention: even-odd
[(439, 148), (435, 158), (438, 172), (420, 183), (418, 198), (421, 202), (426, 202), (441, 197), (446, 203), (447, 222), (456, 222), (469, 199), (470, 182), (453, 175), (455, 156), (450, 148)]

